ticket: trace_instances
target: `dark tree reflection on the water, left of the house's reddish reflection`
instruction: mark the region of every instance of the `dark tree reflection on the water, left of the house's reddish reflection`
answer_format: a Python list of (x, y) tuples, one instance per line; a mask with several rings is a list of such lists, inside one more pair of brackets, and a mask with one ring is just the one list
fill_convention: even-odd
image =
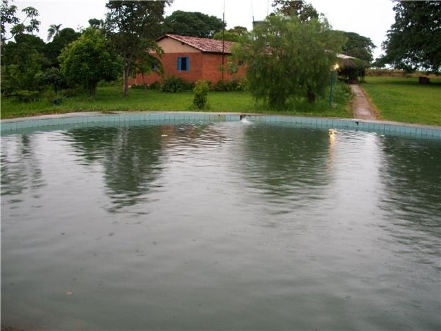
[(146, 201), (150, 183), (161, 171), (161, 127), (77, 128), (65, 134), (86, 163), (103, 166), (109, 210)]

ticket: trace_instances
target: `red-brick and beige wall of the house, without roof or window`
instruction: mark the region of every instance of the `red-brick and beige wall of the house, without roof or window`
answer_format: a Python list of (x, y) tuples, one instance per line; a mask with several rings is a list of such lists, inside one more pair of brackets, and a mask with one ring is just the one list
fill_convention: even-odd
[[(182, 44), (181, 42), (170, 38), (161, 39), (159, 41), (159, 46), (164, 50), (164, 54), (159, 59), (164, 66), (164, 77), (177, 76), (187, 81), (199, 81), (200, 79), (205, 79), (213, 84), (222, 79), (222, 72), (219, 70), (219, 67), (222, 66), (222, 54), (204, 53), (196, 48)], [(178, 57), (190, 58), (189, 71), (177, 71)], [(225, 65), (229, 61), (228, 58), (228, 55), (225, 55)], [(224, 72), (224, 79), (229, 80), (244, 77), (244, 75), (244, 66), (239, 66), (237, 73), (235, 74)], [(144, 74), (144, 81), (142, 74), (137, 74), (135, 79), (129, 79), (129, 85), (141, 85), (144, 82), (146, 84), (151, 84), (161, 80), (162, 77), (155, 72)]]

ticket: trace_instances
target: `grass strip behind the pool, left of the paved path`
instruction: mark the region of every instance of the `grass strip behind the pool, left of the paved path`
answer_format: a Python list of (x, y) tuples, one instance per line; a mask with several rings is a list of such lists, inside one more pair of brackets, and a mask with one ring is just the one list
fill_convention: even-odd
[[(262, 112), (278, 114), (298, 114), (319, 117), (351, 117), (348, 110), (349, 94), (342, 86), (335, 88), (332, 108), (327, 98), (320, 99), (313, 105), (306, 101), (288, 103), (286, 110), (274, 112), (256, 103), (248, 92), (210, 92), (208, 106), (210, 112)], [(97, 88), (94, 99), (86, 94), (70, 97), (61, 106), (51, 106), (47, 99), (32, 103), (21, 103), (14, 99), (1, 99), (1, 119), (26, 117), (39, 114), (61, 114), (66, 112), (112, 112), (124, 111), (188, 111), (193, 103), (193, 92), (163, 93), (157, 90), (130, 90), (127, 98), (123, 97), (121, 86)]]

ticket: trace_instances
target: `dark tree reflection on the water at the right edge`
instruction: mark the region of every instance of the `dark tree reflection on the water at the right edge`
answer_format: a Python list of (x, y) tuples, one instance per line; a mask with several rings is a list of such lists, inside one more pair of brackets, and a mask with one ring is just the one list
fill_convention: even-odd
[(401, 252), (427, 252), (415, 259), (441, 267), (441, 146), (394, 137), (382, 137), (381, 145), (384, 228), (402, 243)]

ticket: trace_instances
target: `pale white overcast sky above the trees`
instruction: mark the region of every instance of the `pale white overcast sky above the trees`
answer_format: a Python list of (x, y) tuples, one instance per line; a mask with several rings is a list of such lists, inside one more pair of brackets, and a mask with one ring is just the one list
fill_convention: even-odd
[[(19, 10), (32, 6), (39, 11), (41, 39), (46, 41), (50, 24), (62, 24), (61, 28), (86, 28), (88, 20), (103, 19), (106, 0), (15, 0)], [(227, 28), (252, 27), (255, 20), (264, 19), (272, 0), (225, 0)], [(318, 12), (322, 12), (335, 30), (356, 32), (372, 39), (377, 48), (374, 57), (381, 54), (381, 43), (394, 22), (391, 0), (309, 0)], [(166, 15), (175, 10), (203, 12), (222, 18), (224, 0), (175, 0), (166, 9)]]

